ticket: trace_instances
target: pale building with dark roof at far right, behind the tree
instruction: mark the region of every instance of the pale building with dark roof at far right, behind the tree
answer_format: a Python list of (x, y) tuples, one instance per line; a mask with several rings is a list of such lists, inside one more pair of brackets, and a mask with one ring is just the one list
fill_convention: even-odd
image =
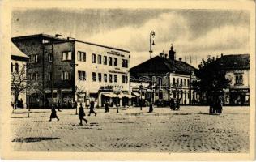
[(222, 55), (216, 62), (231, 81), (224, 90), (224, 104), (250, 104), (250, 54)]

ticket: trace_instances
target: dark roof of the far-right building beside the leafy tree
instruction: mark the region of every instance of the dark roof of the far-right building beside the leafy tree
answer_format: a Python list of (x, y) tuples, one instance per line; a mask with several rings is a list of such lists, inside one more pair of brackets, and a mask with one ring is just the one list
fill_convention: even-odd
[(250, 54), (223, 55), (215, 63), (224, 70), (250, 69)]

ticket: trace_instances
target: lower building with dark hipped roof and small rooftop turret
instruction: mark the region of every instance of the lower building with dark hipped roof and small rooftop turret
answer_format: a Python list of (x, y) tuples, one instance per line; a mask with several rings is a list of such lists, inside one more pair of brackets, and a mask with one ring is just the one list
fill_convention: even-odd
[[(195, 79), (195, 68), (181, 58), (176, 60), (176, 52), (173, 46), (168, 54), (160, 53), (159, 56), (151, 58), (146, 62), (134, 66), (130, 69), (131, 89), (134, 96), (143, 96), (141, 91), (143, 84), (150, 83), (152, 77), (153, 85), (147, 87), (146, 98), (153, 101), (168, 101), (170, 98), (181, 99), (180, 104), (192, 104), (198, 101), (198, 94), (191, 87), (191, 82)], [(153, 87), (152, 96), (150, 86)]]

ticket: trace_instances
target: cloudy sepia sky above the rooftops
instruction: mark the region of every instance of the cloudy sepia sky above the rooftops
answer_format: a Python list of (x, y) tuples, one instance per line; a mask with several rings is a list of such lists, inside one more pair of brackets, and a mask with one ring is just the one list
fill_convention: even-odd
[(16, 9), (12, 36), (62, 34), (78, 40), (130, 51), (130, 67), (168, 53), (197, 67), (209, 55), (250, 53), (250, 12), (173, 9)]

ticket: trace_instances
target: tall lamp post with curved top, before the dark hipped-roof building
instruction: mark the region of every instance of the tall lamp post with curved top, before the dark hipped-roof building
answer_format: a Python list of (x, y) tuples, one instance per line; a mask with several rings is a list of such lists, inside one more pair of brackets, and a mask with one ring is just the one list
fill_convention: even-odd
[(152, 86), (153, 86), (152, 79), (153, 79), (153, 77), (152, 77), (152, 61), (151, 61), (151, 58), (152, 58), (152, 52), (153, 52), (152, 51), (152, 45), (155, 45), (154, 40), (152, 42), (152, 38), (154, 38), (154, 37), (155, 37), (155, 32), (151, 31), (150, 32), (150, 36), (149, 36), (149, 53), (150, 53), (150, 69), (151, 69), (151, 75), (150, 75), (150, 77), (151, 77), (150, 95), (151, 95), (151, 97), (150, 97), (150, 105), (149, 105), (148, 113), (153, 112), (153, 104), (152, 104)]

